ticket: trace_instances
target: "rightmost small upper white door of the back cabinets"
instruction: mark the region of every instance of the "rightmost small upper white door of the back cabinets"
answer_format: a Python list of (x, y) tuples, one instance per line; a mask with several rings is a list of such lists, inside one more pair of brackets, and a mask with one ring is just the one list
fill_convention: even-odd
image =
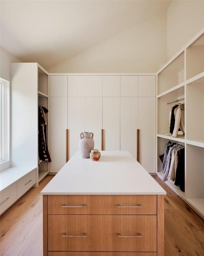
[(138, 76), (138, 96), (155, 97), (156, 76)]

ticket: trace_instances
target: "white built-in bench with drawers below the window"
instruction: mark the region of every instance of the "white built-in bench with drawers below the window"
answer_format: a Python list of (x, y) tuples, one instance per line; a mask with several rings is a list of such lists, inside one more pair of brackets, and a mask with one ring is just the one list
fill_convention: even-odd
[(36, 168), (10, 167), (0, 172), (0, 214), (36, 183)]

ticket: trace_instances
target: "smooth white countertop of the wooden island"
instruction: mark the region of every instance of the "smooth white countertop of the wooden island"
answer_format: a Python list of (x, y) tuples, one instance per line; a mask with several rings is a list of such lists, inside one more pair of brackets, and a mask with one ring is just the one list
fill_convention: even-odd
[(101, 151), (98, 161), (77, 151), (41, 191), (44, 195), (165, 195), (128, 151)]

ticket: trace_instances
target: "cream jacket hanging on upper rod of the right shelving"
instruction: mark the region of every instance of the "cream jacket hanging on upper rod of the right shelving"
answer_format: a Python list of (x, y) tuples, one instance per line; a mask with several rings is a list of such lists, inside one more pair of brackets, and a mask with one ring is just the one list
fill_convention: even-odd
[(183, 134), (185, 133), (184, 106), (185, 104), (180, 104), (177, 108), (174, 109), (175, 124), (172, 137), (177, 137), (179, 128), (183, 132)]

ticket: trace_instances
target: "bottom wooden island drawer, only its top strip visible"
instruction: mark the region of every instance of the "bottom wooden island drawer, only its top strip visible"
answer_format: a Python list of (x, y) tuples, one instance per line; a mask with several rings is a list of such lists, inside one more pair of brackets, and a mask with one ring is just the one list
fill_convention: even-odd
[(156, 252), (48, 252), (48, 256), (157, 256)]

